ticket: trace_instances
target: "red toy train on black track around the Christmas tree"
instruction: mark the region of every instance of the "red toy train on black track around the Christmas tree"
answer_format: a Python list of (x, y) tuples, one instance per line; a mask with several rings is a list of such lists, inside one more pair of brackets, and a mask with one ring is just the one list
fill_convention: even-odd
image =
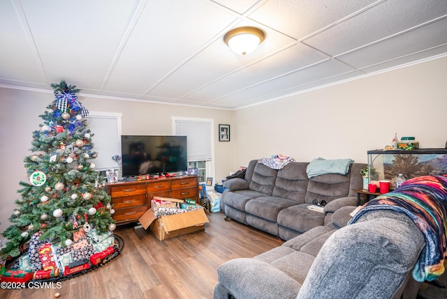
[(85, 274), (91, 270), (99, 268), (105, 263), (108, 263), (122, 251), (124, 247), (124, 241), (121, 237), (115, 235), (115, 243), (102, 252), (97, 252), (89, 257), (89, 259), (81, 259), (79, 261), (73, 261), (64, 267), (63, 274), (60, 275), (59, 268), (54, 268), (50, 270), (37, 270), (36, 272), (31, 272), (29, 270), (8, 270), (6, 273), (1, 275), (1, 282), (10, 282), (17, 284), (24, 284), (34, 280), (34, 281), (62, 281), (66, 279), (71, 279), (78, 275)]

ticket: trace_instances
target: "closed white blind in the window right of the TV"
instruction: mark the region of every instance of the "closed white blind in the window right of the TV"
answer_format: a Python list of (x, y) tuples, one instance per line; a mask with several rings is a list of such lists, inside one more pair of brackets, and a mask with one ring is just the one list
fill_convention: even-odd
[(212, 160), (210, 132), (209, 121), (175, 121), (175, 134), (187, 137), (189, 162)]

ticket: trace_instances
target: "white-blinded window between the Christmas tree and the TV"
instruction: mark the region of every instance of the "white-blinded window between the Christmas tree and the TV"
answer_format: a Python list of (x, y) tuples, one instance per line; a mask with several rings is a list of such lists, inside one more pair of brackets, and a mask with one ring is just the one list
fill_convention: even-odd
[(93, 160), (95, 170), (117, 169), (118, 163), (112, 159), (112, 156), (121, 155), (122, 114), (90, 112), (86, 119), (87, 127), (94, 134), (93, 151), (98, 153), (98, 157)]

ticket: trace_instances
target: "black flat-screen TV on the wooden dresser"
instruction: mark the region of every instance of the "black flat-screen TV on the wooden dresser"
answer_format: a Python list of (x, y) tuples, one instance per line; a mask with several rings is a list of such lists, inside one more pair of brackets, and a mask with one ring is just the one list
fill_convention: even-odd
[(122, 135), (121, 146), (123, 176), (188, 169), (186, 136)]

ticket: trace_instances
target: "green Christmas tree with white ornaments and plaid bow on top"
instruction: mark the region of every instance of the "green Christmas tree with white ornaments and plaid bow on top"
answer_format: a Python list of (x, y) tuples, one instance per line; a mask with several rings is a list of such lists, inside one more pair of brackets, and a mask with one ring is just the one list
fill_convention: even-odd
[(51, 86), (55, 100), (40, 116), (44, 123), (33, 132), (31, 155), (24, 158), (29, 182), (20, 182), (22, 199), (15, 200), (12, 225), (3, 232), (8, 239), (3, 258), (18, 256), (36, 233), (39, 240), (69, 246), (80, 229), (105, 233), (116, 227), (110, 196), (101, 190), (102, 178), (91, 162), (97, 153), (88, 111), (76, 95), (80, 90), (64, 81)]

